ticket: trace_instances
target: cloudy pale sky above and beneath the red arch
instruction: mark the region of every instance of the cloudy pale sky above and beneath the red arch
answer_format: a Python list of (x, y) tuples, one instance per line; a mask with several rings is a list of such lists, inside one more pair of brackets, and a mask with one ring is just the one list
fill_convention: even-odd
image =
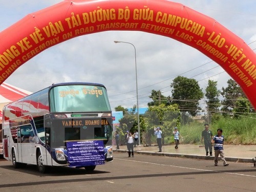
[[(0, 31), (27, 14), (59, 0), (0, 0)], [(191, 9), (214, 18), (256, 50), (256, 4), (254, 0), (182, 0)], [(96, 82), (108, 90), (112, 110), (137, 104), (136, 48), (139, 108), (147, 108), (152, 90), (172, 96), (170, 83), (177, 76), (194, 78), (205, 93), (208, 80), (227, 86), (231, 77), (198, 50), (169, 37), (140, 31), (108, 31), (79, 36), (36, 55), (20, 66), (5, 82), (36, 92), (58, 82)], [(0, 42), (1, 43), (1, 42)], [(204, 101), (201, 101), (202, 105)]]

